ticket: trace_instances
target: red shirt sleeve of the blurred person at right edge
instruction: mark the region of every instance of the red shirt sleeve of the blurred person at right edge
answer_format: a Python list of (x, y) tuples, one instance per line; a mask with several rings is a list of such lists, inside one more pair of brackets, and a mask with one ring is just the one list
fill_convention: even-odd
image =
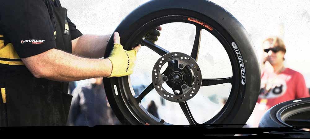
[(303, 78), (303, 75), (301, 73), (296, 73), (295, 83), (296, 83), (295, 99), (310, 97), (305, 79)]

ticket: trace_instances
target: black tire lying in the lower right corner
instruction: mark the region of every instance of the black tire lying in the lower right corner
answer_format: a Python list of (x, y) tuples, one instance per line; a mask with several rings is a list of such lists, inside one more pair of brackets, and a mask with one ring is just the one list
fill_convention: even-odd
[(260, 128), (310, 128), (310, 97), (279, 103), (264, 114)]

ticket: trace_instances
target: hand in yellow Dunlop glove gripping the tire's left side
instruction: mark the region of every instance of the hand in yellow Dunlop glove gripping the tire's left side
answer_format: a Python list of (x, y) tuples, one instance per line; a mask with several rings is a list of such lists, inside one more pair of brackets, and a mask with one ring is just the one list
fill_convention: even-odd
[(114, 32), (114, 47), (108, 59), (112, 63), (112, 72), (108, 77), (122, 77), (133, 73), (133, 67), (136, 59), (136, 53), (140, 50), (139, 44), (132, 50), (127, 51), (121, 45), (121, 39), (118, 32)]

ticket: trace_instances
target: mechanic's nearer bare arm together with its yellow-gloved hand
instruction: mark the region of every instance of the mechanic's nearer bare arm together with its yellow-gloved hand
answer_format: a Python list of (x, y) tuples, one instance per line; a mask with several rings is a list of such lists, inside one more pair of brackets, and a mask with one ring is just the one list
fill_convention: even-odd
[[(78, 81), (95, 77), (109, 77), (111, 74), (113, 77), (129, 75), (133, 70), (135, 53), (139, 51), (141, 45), (136, 46), (135, 50), (125, 52), (120, 45), (121, 40), (118, 32), (114, 33), (113, 39), (115, 45), (112, 50), (113, 55), (109, 59), (83, 58), (53, 48), (38, 55), (22, 58), (22, 61), (36, 78), (47, 78), (54, 81)], [(128, 66), (127, 58), (131, 59)]]

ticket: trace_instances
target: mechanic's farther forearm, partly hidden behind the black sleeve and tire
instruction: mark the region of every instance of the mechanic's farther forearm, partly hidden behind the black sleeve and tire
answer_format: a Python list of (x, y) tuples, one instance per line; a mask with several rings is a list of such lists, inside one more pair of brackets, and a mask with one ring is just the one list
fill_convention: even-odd
[(110, 36), (111, 35), (82, 35), (72, 40), (72, 53), (82, 57), (104, 57)]

